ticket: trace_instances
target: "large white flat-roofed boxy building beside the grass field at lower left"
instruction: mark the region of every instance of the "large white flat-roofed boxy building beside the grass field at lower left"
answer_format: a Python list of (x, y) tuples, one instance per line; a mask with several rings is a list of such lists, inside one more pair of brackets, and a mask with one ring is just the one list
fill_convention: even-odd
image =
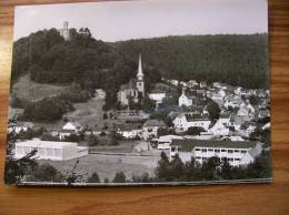
[(34, 139), (24, 142), (17, 142), (14, 156), (16, 158), (21, 158), (33, 150), (37, 150), (36, 157), (39, 160), (63, 161), (88, 154), (88, 149), (78, 146), (77, 143), (40, 141)]

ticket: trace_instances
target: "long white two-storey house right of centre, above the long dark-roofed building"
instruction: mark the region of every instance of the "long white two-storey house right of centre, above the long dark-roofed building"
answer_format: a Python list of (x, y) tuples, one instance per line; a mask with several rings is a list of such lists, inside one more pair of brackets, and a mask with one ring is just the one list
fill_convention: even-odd
[(205, 131), (209, 129), (211, 121), (199, 114), (179, 114), (173, 121), (173, 126), (176, 131), (186, 132), (189, 127), (198, 126), (202, 127)]

